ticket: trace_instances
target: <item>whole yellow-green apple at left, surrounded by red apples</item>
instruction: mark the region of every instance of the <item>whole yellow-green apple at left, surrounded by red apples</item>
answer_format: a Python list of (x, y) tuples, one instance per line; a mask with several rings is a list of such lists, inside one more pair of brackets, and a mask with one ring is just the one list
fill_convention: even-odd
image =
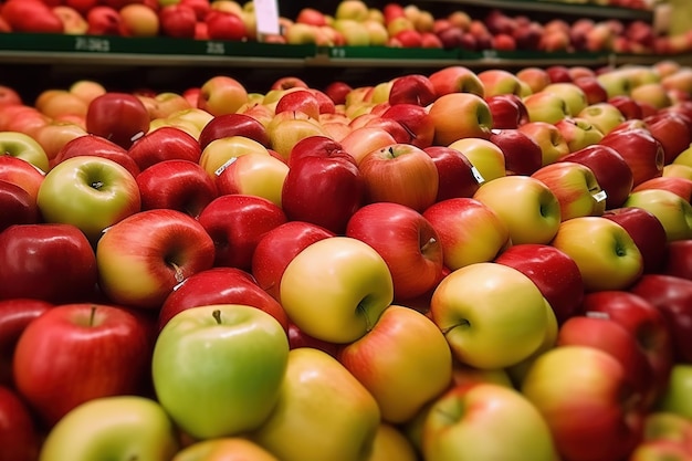
[(107, 158), (80, 156), (43, 178), (36, 203), (48, 222), (73, 224), (95, 242), (104, 229), (140, 210), (135, 178)]

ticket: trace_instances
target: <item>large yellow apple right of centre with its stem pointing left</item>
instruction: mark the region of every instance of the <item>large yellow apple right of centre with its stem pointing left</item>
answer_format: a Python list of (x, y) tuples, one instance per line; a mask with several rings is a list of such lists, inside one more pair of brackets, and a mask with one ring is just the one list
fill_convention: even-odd
[(526, 359), (549, 327), (545, 300), (531, 279), (494, 262), (470, 264), (442, 279), (430, 314), (454, 357), (483, 369)]

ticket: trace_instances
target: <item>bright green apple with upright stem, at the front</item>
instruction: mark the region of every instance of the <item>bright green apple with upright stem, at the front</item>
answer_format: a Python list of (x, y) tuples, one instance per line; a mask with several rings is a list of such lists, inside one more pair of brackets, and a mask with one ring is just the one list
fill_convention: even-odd
[(281, 324), (262, 310), (220, 304), (176, 314), (159, 333), (151, 376), (161, 406), (196, 439), (260, 427), (289, 360)]

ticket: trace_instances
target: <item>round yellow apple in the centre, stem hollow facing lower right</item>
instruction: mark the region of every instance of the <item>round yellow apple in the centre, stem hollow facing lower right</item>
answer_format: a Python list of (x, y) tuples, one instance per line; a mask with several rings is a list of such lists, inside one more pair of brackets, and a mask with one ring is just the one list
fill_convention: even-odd
[(382, 256), (349, 237), (329, 237), (302, 250), (286, 265), (280, 286), (291, 321), (329, 343), (360, 338), (394, 301), (391, 273)]

